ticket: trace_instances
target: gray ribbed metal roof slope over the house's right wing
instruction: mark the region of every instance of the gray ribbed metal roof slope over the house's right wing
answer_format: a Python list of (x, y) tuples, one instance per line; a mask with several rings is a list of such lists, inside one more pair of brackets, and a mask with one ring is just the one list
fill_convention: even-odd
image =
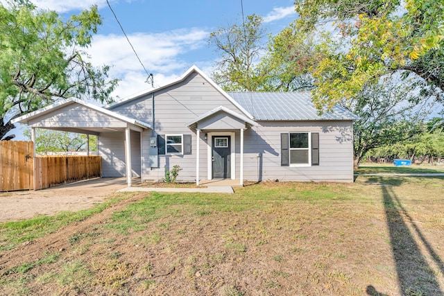
[(355, 120), (358, 116), (335, 105), (331, 112), (318, 114), (309, 92), (227, 92), (244, 107), (255, 120)]

